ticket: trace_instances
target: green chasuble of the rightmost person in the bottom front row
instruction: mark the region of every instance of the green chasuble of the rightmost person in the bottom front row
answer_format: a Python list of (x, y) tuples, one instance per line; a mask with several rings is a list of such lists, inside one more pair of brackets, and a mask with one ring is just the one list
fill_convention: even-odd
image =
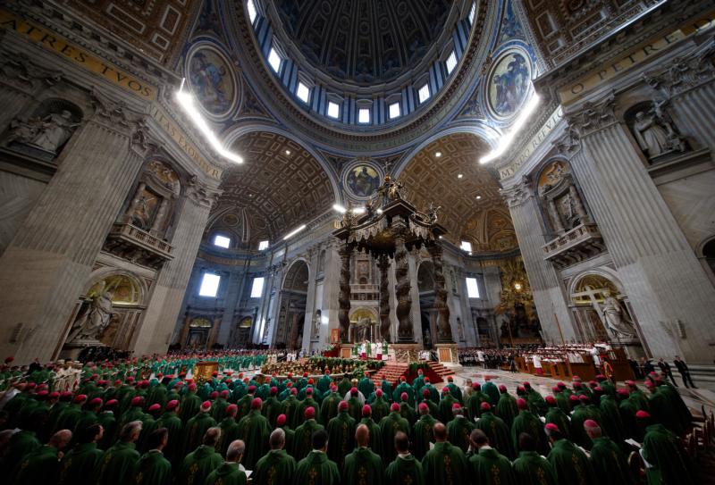
[(648, 485), (695, 483), (679, 439), (662, 424), (652, 424), (645, 429), (641, 456), (648, 462), (645, 469)]

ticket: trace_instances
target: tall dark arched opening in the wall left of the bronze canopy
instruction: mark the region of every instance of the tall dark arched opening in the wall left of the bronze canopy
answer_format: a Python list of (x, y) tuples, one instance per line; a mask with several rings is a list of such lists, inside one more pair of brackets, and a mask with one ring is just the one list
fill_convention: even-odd
[(307, 263), (303, 260), (292, 263), (286, 272), (272, 347), (299, 348), (303, 343), (308, 274)]

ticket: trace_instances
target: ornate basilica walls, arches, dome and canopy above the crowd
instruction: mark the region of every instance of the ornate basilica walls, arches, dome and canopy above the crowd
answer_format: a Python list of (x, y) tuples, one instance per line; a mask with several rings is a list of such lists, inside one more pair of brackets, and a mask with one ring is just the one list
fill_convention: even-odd
[(9, 0), (0, 354), (606, 342), (713, 373), (684, 0)]

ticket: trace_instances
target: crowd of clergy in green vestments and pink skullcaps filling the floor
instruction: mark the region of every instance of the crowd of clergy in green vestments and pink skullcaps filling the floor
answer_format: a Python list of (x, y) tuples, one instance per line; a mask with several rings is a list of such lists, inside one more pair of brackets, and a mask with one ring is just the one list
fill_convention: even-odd
[(61, 366), (21, 369), (6, 360), (4, 483), (698, 481), (681, 440), (693, 416), (655, 372), (642, 386), (574, 376), (543, 396), (528, 381), (515, 392), (488, 377), (460, 388), (452, 377), (435, 385), (419, 370), (393, 386), (330, 368), (322, 376), (264, 375), (265, 355), (217, 360), (204, 381), (186, 372), (196, 362), (176, 357), (88, 363), (69, 388), (57, 377)]

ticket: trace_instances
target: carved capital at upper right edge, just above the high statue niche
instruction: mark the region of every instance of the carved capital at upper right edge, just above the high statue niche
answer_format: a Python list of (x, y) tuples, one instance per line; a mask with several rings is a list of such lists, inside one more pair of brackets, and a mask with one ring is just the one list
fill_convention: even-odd
[(644, 72), (644, 82), (665, 99), (715, 79), (715, 36), (690, 52), (674, 57), (657, 70)]

